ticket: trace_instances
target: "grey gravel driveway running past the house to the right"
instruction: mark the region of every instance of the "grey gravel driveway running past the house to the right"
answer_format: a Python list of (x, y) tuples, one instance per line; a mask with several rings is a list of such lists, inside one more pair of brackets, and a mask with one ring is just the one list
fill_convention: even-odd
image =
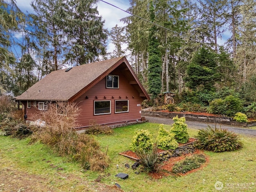
[[(162, 123), (166, 125), (173, 124), (173, 120), (169, 118), (161, 118), (161, 117), (154, 117), (154, 116), (145, 116), (145, 117), (146, 117), (146, 120), (152, 123)], [(209, 125), (211, 127), (215, 127), (215, 126), (217, 128), (221, 127), (223, 129), (233, 131), (237, 134), (246, 134), (250, 136), (256, 136), (256, 130), (248, 129), (248, 128), (240, 128), (240, 127), (226, 126), (226, 125), (220, 125), (220, 124), (210, 124), (210, 123), (196, 122), (196, 121), (186, 121), (186, 124), (188, 125), (188, 128), (192, 128), (192, 129), (204, 129)]]

